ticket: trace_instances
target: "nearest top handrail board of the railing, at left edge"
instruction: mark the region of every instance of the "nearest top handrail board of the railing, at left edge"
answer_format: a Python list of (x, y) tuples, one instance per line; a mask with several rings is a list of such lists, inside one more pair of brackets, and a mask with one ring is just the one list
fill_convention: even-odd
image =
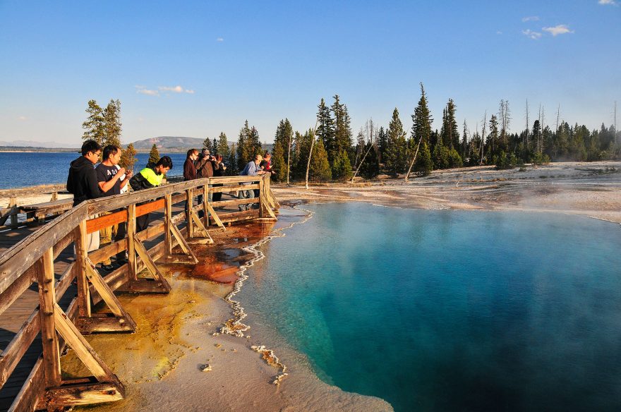
[(3, 253), (0, 256), (0, 293), (6, 291), (46, 250), (73, 231), (86, 218), (86, 210), (86, 205), (74, 207)]

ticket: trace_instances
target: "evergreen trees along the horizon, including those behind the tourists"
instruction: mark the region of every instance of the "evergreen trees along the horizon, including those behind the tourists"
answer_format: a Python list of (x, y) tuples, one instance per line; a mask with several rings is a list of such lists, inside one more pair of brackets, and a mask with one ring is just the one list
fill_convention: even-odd
[[(366, 121), (354, 138), (351, 118), (339, 95), (332, 104), (320, 99), (314, 128), (294, 131), (289, 119), (279, 122), (272, 149), (275, 181), (345, 181), (353, 176), (375, 178), (379, 174), (425, 176), (435, 169), (462, 166), (495, 165), (509, 169), (526, 163), (543, 164), (559, 161), (594, 161), (621, 157), (621, 132), (615, 125), (602, 123), (598, 130), (578, 123), (560, 120), (560, 109), (554, 124), (545, 124), (543, 109), (532, 122), (526, 102), (526, 123), (520, 132), (510, 131), (510, 103), (501, 99), (498, 112), (484, 114), (481, 130), (471, 133), (466, 121), (457, 123), (457, 104), (449, 99), (442, 110), (440, 130), (433, 128), (428, 97), (421, 83), (421, 96), (411, 116), (409, 130), (395, 107), (386, 127)], [(102, 145), (120, 141), (120, 102), (111, 100), (101, 109), (95, 100), (88, 102), (84, 138)], [(115, 140), (116, 139), (116, 140)], [(255, 154), (263, 154), (259, 133), (246, 120), (236, 143), (229, 145), (226, 133), (218, 138), (205, 138), (203, 147), (212, 154), (222, 154), (227, 174), (238, 174)], [(132, 147), (133, 149), (133, 147)], [(128, 152), (128, 150), (126, 150)], [(134, 151), (135, 152), (135, 151)], [(125, 152), (123, 152), (123, 155)]]

